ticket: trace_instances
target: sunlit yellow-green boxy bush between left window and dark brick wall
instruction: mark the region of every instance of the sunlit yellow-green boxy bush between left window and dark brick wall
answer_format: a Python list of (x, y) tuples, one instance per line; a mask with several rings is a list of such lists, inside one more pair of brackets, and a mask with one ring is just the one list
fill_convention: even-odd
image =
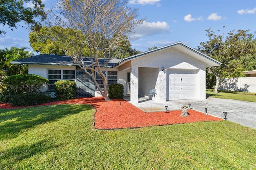
[(70, 100), (76, 98), (76, 82), (71, 80), (59, 80), (54, 83), (56, 99)]

